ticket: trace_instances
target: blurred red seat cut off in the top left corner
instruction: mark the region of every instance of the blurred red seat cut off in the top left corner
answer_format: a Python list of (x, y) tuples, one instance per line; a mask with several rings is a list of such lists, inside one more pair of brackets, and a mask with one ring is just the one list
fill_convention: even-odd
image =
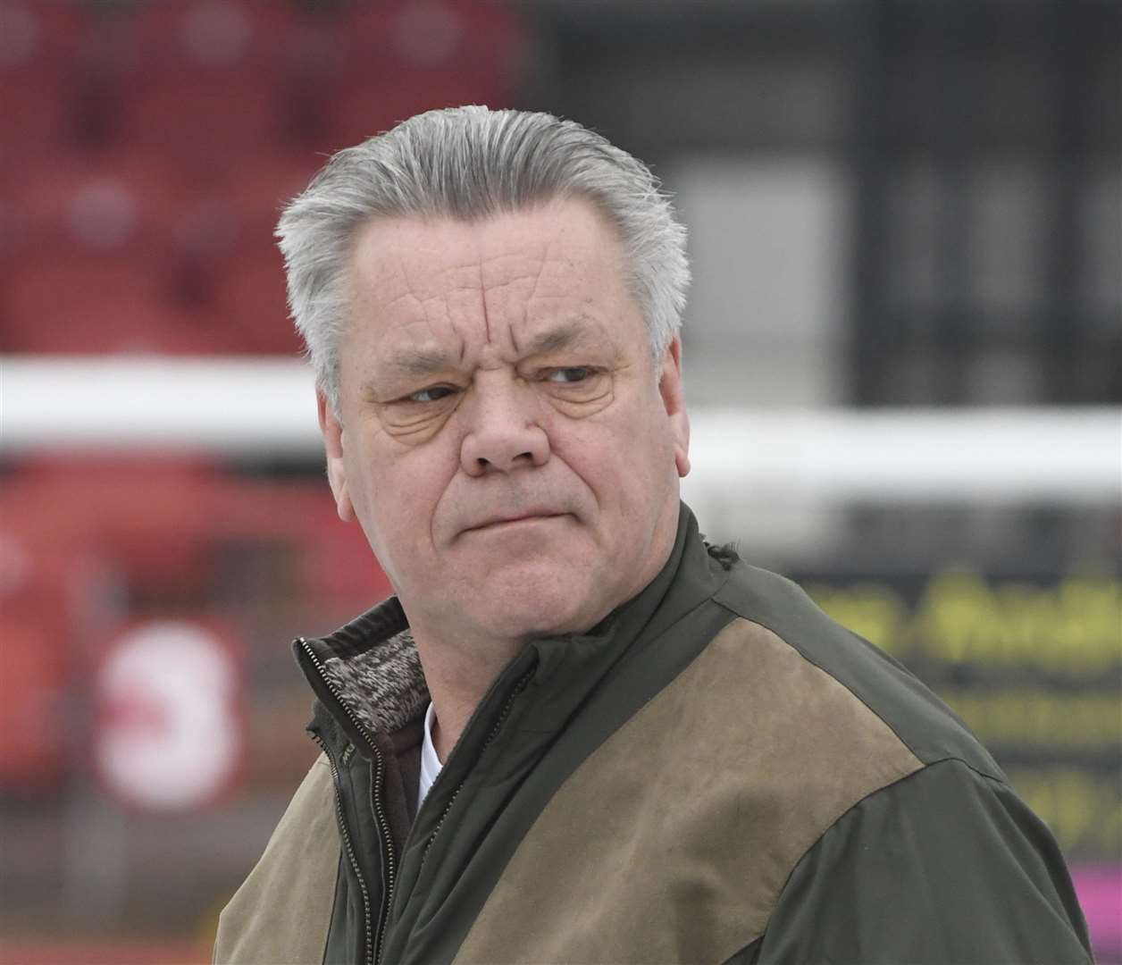
[(89, 4), (0, 0), (0, 168), (73, 139)]

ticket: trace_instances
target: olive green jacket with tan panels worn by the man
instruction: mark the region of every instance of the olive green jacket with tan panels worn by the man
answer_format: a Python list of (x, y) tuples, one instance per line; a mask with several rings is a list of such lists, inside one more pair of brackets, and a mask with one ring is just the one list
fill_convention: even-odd
[(1091, 961), (1051, 835), (965, 726), (684, 506), (643, 592), (506, 668), (415, 815), (399, 605), (296, 652), (323, 754), (219, 963)]

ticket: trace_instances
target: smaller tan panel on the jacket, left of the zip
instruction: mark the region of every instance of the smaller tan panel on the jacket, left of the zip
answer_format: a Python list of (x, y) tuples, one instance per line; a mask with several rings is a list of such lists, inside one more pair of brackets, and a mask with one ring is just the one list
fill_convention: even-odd
[(320, 755), (218, 920), (215, 965), (320, 965), (339, 868), (334, 783)]

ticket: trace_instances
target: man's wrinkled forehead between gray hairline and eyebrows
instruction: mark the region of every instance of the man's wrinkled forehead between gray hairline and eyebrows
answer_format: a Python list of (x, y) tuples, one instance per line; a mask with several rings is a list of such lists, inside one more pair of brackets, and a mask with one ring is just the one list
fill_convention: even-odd
[(616, 233), (583, 200), (470, 222), (374, 221), (350, 281), (349, 334), (362, 341), (517, 341), (560, 316), (637, 316)]

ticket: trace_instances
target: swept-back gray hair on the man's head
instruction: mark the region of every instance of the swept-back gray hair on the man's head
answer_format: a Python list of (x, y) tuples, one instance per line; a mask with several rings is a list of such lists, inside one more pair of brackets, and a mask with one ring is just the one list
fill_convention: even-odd
[(626, 282), (661, 355), (686, 306), (686, 229), (650, 169), (600, 135), (552, 114), (463, 107), (417, 114), (334, 155), (277, 224), (288, 305), (332, 410), (360, 227), (399, 217), (473, 221), (569, 196), (587, 197), (615, 227)]

